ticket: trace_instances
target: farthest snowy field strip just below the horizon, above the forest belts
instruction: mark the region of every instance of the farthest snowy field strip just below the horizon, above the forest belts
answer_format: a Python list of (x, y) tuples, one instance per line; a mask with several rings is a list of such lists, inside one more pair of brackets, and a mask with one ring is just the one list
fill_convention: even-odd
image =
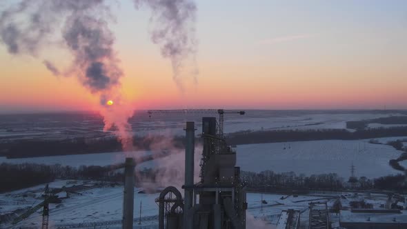
[[(346, 129), (346, 121), (361, 121), (365, 119), (376, 119), (379, 117), (390, 117), (401, 114), (373, 114), (373, 113), (297, 113), (296, 111), (283, 114), (273, 114), (268, 111), (268, 115), (256, 117), (247, 111), (246, 115), (228, 115), (225, 119), (225, 133), (239, 132), (244, 130), (310, 130), (310, 129)], [(214, 115), (209, 115), (214, 116)], [(162, 115), (159, 116), (162, 118)], [(217, 115), (215, 115), (217, 117)], [(183, 126), (188, 121), (188, 116), (183, 121), (161, 121), (155, 120), (154, 116), (150, 122), (143, 122), (140, 130), (135, 131), (136, 135), (168, 134), (183, 135)], [(199, 119), (197, 126), (199, 126)], [(137, 126), (137, 123), (135, 123)], [(198, 131), (199, 132), (199, 131)]]

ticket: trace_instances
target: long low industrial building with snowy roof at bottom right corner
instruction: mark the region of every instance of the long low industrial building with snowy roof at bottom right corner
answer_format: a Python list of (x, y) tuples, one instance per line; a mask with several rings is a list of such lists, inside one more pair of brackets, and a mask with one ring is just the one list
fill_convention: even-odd
[(404, 229), (407, 212), (397, 209), (341, 210), (339, 225), (347, 229)]

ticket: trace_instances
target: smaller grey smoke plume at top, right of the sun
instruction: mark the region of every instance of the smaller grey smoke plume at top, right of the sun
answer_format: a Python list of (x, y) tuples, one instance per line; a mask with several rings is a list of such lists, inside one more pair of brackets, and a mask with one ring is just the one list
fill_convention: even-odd
[(197, 81), (197, 39), (195, 20), (197, 6), (192, 0), (133, 0), (137, 9), (147, 6), (152, 11), (151, 40), (159, 45), (161, 55), (172, 64), (172, 77), (183, 90), (181, 75), (186, 61), (192, 62), (192, 70), (186, 72)]

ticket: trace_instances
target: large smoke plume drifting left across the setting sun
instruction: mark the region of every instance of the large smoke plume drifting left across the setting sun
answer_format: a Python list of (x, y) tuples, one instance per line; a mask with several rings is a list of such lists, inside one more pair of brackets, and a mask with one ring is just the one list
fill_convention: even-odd
[[(123, 112), (123, 103), (119, 103), (123, 73), (113, 50), (115, 37), (108, 28), (113, 19), (104, 0), (23, 0), (1, 11), (0, 37), (10, 54), (37, 57), (39, 50), (51, 43), (54, 32), (61, 30), (62, 46), (74, 57), (64, 74), (77, 76), (84, 87), (99, 96), (105, 130), (114, 127), (123, 150), (131, 150), (127, 121), (132, 112)], [(43, 63), (52, 74), (61, 74), (50, 61)], [(106, 101), (110, 99), (117, 104), (108, 108)]]

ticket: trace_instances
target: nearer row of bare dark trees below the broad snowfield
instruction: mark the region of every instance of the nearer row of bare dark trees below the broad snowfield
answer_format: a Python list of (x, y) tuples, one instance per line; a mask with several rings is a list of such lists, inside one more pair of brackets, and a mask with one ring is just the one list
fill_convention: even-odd
[[(46, 166), (35, 163), (0, 164), (0, 192), (9, 192), (28, 188), (42, 183), (49, 183), (55, 179), (92, 179), (95, 181), (123, 182), (123, 171), (120, 166)], [(172, 175), (179, 172), (176, 169), (163, 168), (145, 169), (138, 171), (136, 183), (143, 181), (155, 182), (156, 175)], [(308, 190), (342, 190), (348, 181), (355, 183), (357, 190), (394, 190), (403, 192), (407, 189), (405, 175), (390, 175), (377, 179), (359, 177), (344, 179), (335, 173), (321, 175), (296, 175), (295, 172), (277, 173), (271, 170), (264, 172), (241, 172), (241, 181), (251, 190), (266, 190), (270, 192), (307, 192)]]

